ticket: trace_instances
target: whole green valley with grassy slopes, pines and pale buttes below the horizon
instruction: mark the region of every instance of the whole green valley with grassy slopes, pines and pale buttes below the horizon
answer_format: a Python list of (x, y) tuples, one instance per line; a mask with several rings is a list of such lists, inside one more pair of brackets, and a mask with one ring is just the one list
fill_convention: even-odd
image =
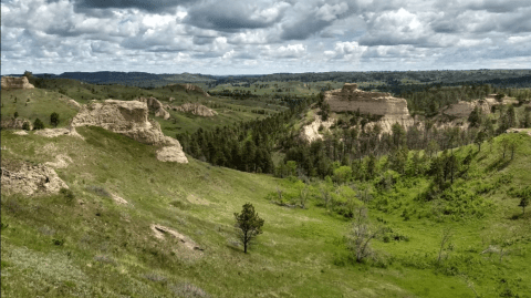
[(529, 90), (221, 83), (2, 85), (2, 296), (531, 295)]

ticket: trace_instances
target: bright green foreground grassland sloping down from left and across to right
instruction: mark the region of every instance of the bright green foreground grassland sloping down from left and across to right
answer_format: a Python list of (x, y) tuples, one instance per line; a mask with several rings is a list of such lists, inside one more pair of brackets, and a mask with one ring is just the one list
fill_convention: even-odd
[[(1, 132), (7, 148), (2, 162), (70, 156), (73, 163), (56, 172), (75, 195), (2, 195), (2, 296), (531, 295), (531, 217), (521, 216), (511, 195), (530, 183), (527, 135), (499, 136), (492, 150), (486, 143), (479, 153), (472, 145), (455, 150), (458, 156), (471, 153), (472, 161), (444, 198), (419, 199), (431, 182), (428, 176), (386, 171), (374, 181), (340, 186), (344, 175), (339, 173), (329, 186), (310, 183), (302, 209), (272, 204), (281, 189), (283, 205), (295, 205), (301, 187), (296, 178), (248, 174), (192, 158), (187, 165), (162, 163), (152, 146), (102, 129), (77, 131), (84, 141)], [(501, 157), (506, 137), (519, 143), (512, 161), (510, 154)], [(385, 158), (377, 166), (383, 168)], [(382, 178), (394, 182), (382, 184)], [(321, 187), (332, 193), (326, 207)], [(372, 197), (367, 203), (365, 194)], [(128, 204), (116, 204), (113, 195)], [(266, 225), (244, 255), (236, 242), (233, 213), (247, 202)], [(372, 243), (375, 259), (357, 264), (347, 249), (348, 203), (366, 204), (371, 220), (385, 228)], [(157, 239), (153, 224), (190, 237), (205, 250), (186, 249), (169, 235)], [(437, 263), (448, 228), (451, 246)], [(494, 248), (481, 254), (489, 246), (510, 253), (500, 261)]]

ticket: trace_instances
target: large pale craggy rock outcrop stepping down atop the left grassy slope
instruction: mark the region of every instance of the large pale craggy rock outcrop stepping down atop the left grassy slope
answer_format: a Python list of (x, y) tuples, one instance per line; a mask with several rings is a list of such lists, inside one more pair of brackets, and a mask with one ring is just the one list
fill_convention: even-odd
[[(164, 162), (188, 163), (179, 142), (165, 136), (160, 125), (148, 120), (147, 103), (106, 100), (83, 105), (72, 120), (72, 126), (100, 126), (126, 135), (137, 142), (160, 146), (157, 158)], [(171, 157), (168, 152), (171, 152)]]

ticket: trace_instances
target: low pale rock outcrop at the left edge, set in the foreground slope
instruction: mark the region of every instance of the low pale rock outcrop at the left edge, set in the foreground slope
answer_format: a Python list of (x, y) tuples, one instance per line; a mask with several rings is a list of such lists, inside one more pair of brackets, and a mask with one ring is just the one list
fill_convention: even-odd
[[(2, 161), (3, 165), (4, 161)], [(1, 167), (2, 194), (44, 195), (56, 194), (69, 186), (46, 165), (10, 163)]]

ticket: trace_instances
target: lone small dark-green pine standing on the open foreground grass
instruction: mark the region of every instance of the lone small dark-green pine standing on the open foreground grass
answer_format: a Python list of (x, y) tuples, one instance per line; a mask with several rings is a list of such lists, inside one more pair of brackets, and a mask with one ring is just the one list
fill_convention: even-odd
[(235, 213), (235, 227), (238, 229), (240, 240), (243, 244), (243, 251), (247, 254), (251, 240), (262, 234), (264, 220), (258, 216), (251, 203), (244, 204), (240, 214)]

